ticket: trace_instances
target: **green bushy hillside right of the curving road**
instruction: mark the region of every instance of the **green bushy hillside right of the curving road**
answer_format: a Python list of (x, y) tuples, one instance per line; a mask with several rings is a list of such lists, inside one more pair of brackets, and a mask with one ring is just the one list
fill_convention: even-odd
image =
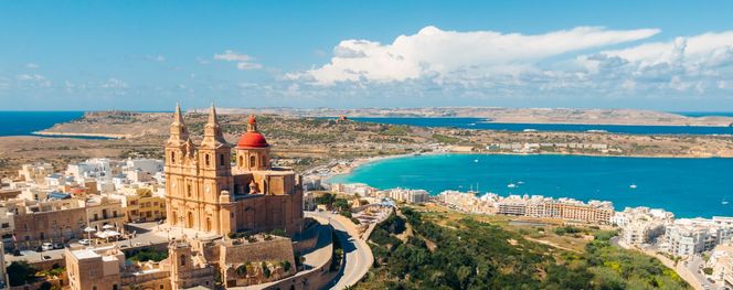
[[(614, 232), (587, 229), (583, 253), (552, 248), (474, 218), (438, 225), (402, 208), (370, 241), (374, 267), (360, 289), (688, 289), (657, 259), (616, 248)], [(412, 235), (406, 235), (407, 224)], [(559, 227), (562, 235), (585, 233)], [(560, 234), (559, 234), (560, 235)]]

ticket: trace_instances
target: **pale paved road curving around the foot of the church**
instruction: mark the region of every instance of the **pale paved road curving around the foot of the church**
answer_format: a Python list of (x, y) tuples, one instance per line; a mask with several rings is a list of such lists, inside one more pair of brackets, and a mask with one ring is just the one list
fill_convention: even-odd
[(306, 216), (327, 219), (333, 226), (339, 239), (343, 244), (346, 266), (341, 268), (339, 276), (326, 288), (343, 289), (355, 284), (372, 267), (374, 256), (372, 256), (372, 250), (366, 245), (366, 241), (358, 238), (359, 230), (354, 224), (341, 215), (327, 212), (306, 212)]

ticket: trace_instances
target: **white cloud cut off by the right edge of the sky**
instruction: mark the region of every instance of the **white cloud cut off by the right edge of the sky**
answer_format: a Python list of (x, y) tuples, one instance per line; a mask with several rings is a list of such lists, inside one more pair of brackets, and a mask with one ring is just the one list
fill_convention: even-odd
[[(592, 75), (618, 76), (648, 89), (703, 94), (733, 78), (733, 32), (678, 36), (577, 57)], [(635, 86), (637, 87), (637, 86)]]

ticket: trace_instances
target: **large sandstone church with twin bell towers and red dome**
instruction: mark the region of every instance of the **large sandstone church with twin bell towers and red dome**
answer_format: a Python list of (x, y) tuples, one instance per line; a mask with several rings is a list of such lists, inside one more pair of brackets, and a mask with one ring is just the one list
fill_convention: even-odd
[(177, 106), (164, 148), (168, 225), (215, 235), (301, 232), (301, 178), (273, 167), (269, 149), (254, 116), (238, 142), (227, 143), (213, 105), (195, 144)]

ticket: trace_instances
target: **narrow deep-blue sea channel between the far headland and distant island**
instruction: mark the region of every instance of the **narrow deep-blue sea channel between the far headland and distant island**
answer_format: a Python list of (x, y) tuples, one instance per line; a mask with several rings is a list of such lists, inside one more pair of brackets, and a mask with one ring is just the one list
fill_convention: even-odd
[(486, 122), (484, 118), (392, 118), (392, 117), (355, 117), (355, 121), (411, 125), (419, 127), (452, 127), (463, 129), (485, 129), (522, 131), (573, 131), (605, 130), (614, 133), (633, 135), (733, 135), (733, 127), (702, 126), (629, 126), (629, 125), (578, 125), (578, 123), (502, 123)]

